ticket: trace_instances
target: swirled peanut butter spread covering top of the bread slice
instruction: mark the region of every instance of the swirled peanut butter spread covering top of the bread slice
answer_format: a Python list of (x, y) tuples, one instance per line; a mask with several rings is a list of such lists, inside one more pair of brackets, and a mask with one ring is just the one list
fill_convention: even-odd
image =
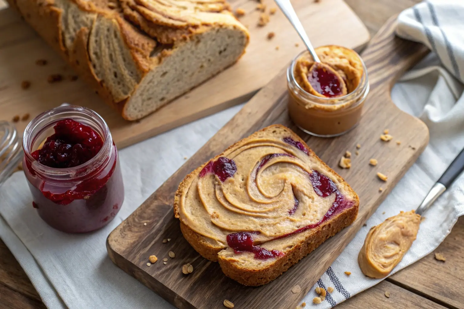
[(194, 171), (186, 185), (180, 220), (220, 246), (236, 232), (253, 233), (255, 244), (286, 237), (353, 205), (344, 198), (348, 186), (285, 136), (242, 141)]

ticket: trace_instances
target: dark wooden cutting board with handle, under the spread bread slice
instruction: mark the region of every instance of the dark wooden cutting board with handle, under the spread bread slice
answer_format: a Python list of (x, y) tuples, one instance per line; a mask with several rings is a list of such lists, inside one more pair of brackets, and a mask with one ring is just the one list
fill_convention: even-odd
[[(428, 50), (421, 44), (394, 37), (394, 20), (391, 19), (377, 33), (362, 53), (371, 89), (361, 122), (354, 130), (333, 139), (312, 137), (298, 130), (287, 114), (285, 69), (281, 70), (206, 145), (116, 227), (107, 240), (111, 260), (181, 309), (223, 308), (225, 299), (232, 301), (237, 309), (295, 308), (427, 145), (429, 135), (425, 124), (400, 111), (391, 101), (390, 91), (402, 72), (417, 63)], [(334, 167), (358, 193), (360, 209), (350, 227), (324, 242), (282, 276), (261, 287), (245, 287), (227, 278), (218, 263), (200, 257), (184, 240), (179, 220), (174, 218), (172, 210), (174, 192), (180, 181), (197, 166), (239, 139), (274, 123), (295, 130), (322, 160)], [(380, 140), (387, 128), (394, 137), (390, 142)], [(357, 144), (361, 145), (359, 155), (355, 154)], [(352, 167), (342, 170), (338, 161), (347, 150), (353, 154)], [(370, 166), (370, 158), (376, 158), (378, 165)], [(388, 181), (382, 182), (376, 176), (377, 172), (387, 175)], [(172, 240), (163, 244), (162, 240), (166, 238)], [(168, 264), (163, 265), (162, 259), (168, 257), (169, 251), (175, 253), (175, 258), (168, 259)], [(146, 263), (151, 254), (160, 260), (148, 267)], [(181, 272), (186, 263), (194, 268), (188, 276)], [(335, 275), (346, 276), (343, 273)], [(301, 292), (293, 294), (291, 289), (296, 284), (301, 287)]]

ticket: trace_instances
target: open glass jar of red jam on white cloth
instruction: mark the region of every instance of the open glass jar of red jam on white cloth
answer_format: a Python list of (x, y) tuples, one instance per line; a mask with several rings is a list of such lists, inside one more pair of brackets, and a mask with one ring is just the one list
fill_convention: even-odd
[(34, 118), (23, 136), (32, 206), (51, 227), (85, 233), (107, 225), (124, 200), (110, 129), (100, 115), (62, 106)]

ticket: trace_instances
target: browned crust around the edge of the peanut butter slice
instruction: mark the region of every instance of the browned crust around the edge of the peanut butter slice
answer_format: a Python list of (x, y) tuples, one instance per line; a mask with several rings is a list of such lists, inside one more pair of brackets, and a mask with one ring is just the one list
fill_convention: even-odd
[[(203, 169), (206, 164), (210, 161), (217, 160), (219, 157), (223, 156), (226, 151), (231, 148), (239, 147), (242, 143), (246, 143), (249, 139), (255, 137), (258, 133), (264, 132), (267, 130), (273, 129), (280, 129), (289, 132), (292, 139), (303, 143), (303, 145), (308, 149), (309, 155), (314, 156), (320, 163), (329, 170), (332, 175), (336, 177), (340, 183), (344, 183), (346, 185), (346, 189), (351, 193), (354, 197), (354, 205), (340, 214), (337, 214), (335, 217), (330, 218), (327, 221), (324, 221), (320, 226), (309, 229), (304, 233), (304, 241), (294, 244), (294, 246), (287, 251), (284, 251), (284, 257), (278, 258), (271, 263), (260, 269), (251, 269), (251, 268), (243, 268), (237, 262), (237, 259), (234, 258), (227, 258), (221, 256), (218, 253), (224, 249), (226, 246), (212, 246), (211, 243), (206, 241), (206, 238), (203, 235), (200, 235), (193, 231), (190, 227), (182, 223), (180, 221), (180, 230), (184, 235), (185, 239), (190, 243), (190, 245), (198, 252), (202, 257), (211, 261), (219, 261), (219, 265), (222, 271), (226, 274), (227, 277), (230, 277), (240, 284), (249, 285), (249, 286), (259, 286), (263, 284), (267, 284), (272, 280), (276, 279), (280, 276), (284, 271), (287, 271), (292, 265), (295, 265), (300, 259), (303, 259), (306, 255), (316, 249), (319, 245), (321, 245), (325, 240), (329, 237), (334, 236), (338, 233), (342, 228), (349, 226), (353, 221), (356, 219), (359, 209), (359, 197), (354, 192), (353, 189), (345, 182), (345, 180), (338, 175), (335, 170), (331, 169), (327, 164), (325, 164), (319, 157), (316, 156), (314, 151), (312, 151), (308, 145), (301, 139), (296, 133), (292, 132), (289, 128), (276, 124), (267, 126), (253, 134), (249, 137), (239, 140), (235, 144), (229, 146), (225, 151), (221, 154), (217, 155), (216, 157), (208, 160), (204, 164), (202, 164), (197, 169), (193, 170), (190, 174), (188, 174), (184, 180), (180, 183), (175, 195), (174, 195), (174, 216), (180, 219), (179, 208), (180, 208), (180, 199), (181, 195), (184, 190), (187, 190), (189, 184), (193, 177), (196, 177), (200, 170)], [(302, 233), (302, 234), (303, 234)]]

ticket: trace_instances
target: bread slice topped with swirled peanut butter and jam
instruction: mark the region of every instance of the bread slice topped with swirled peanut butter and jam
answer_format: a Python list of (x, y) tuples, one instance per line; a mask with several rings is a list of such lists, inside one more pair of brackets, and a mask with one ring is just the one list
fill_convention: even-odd
[(200, 255), (258, 286), (350, 225), (358, 206), (353, 189), (298, 135), (273, 125), (187, 175), (174, 215)]

